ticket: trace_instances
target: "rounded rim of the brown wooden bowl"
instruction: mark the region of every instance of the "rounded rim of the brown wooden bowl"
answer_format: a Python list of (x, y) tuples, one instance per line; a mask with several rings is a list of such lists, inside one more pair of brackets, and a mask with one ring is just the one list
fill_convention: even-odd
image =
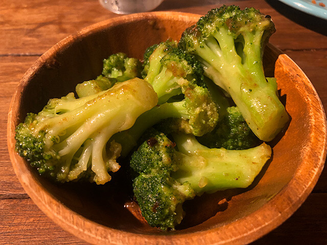
[[(102, 242), (103, 244), (127, 244), (128, 242), (133, 244), (144, 244), (145, 240), (147, 240), (147, 243), (149, 244), (190, 244), (191, 242), (194, 242), (195, 244), (200, 242), (205, 244), (228, 244), (231, 242), (248, 243), (258, 239), (277, 226), (281, 225), (299, 208), (299, 206), (311, 193), (320, 176), (324, 165), (324, 159), (326, 157), (327, 122), (321, 101), (312, 83), (303, 73), (303, 71), (294, 63), (294, 61), (292, 61), (285, 54), (279, 55), (278, 59), (282, 62), (291, 62), (297, 69), (298, 76), (303, 78), (303, 86), (306, 87), (306, 91), (304, 92), (308, 97), (310, 97), (310, 108), (312, 110), (312, 108), (315, 107), (315, 113), (313, 113), (312, 117), (310, 118), (310, 126), (312, 129), (311, 133), (318, 136), (319, 139), (313, 139), (313, 137), (311, 138), (308, 148), (304, 149), (306, 151), (306, 155), (303, 158), (302, 163), (297, 168), (291, 181), (284, 186), (281, 191), (279, 191), (270, 201), (268, 201), (258, 210), (255, 210), (248, 216), (242, 217), (230, 224), (203, 231), (183, 234), (138, 234), (109, 228), (85, 218), (81, 214), (76, 213), (75, 211), (67, 208), (64, 204), (60, 203), (37, 181), (36, 178), (31, 175), (28, 164), (16, 154), (14, 150), (14, 129), (16, 127), (15, 124), (17, 123), (17, 115), (15, 113), (19, 109), (19, 101), (21, 98), (20, 91), (24, 89), (25, 85), (29, 82), (30, 78), (41, 67), (41, 65), (47, 60), (51, 59), (51, 57), (55, 56), (57, 52), (71, 45), (76, 39), (83, 38), (91, 32), (101, 31), (103, 29), (115, 26), (115, 24), (133, 22), (143, 18), (164, 18), (172, 20), (190, 20), (191, 18), (192, 20), (194, 19), (194, 22), (196, 22), (200, 16), (201, 15), (198, 14), (183, 12), (147, 12), (114, 17), (96, 24), (92, 24), (91, 26), (88, 26), (75, 34), (64, 38), (51, 47), (37, 59), (37, 61), (28, 69), (20, 80), (12, 97), (8, 113), (7, 143), (10, 159), (19, 182), (34, 203), (64, 230), (93, 244), (97, 244), (99, 242)], [(270, 47), (274, 48), (272, 45), (270, 45)], [(280, 53), (277, 48), (275, 48), (275, 51)], [(317, 127), (317, 125), (319, 125), (319, 127)], [(308, 166), (310, 166), (310, 168), (308, 168)], [(306, 167), (307, 169), (312, 170), (306, 172), (305, 183), (303, 183), (303, 169)], [(43, 194), (39, 195), (38, 193)], [(49, 204), (52, 205), (51, 208), (49, 207)], [(269, 212), (267, 212), (268, 210)], [(267, 215), (267, 213), (269, 213), (269, 215)], [(64, 217), (63, 214), (65, 214)], [(256, 220), (255, 224), (253, 224), (253, 220)], [(237, 231), (232, 228), (232, 226), (235, 225), (238, 226)], [(85, 229), (82, 230), (80, 227), (85, 227)], [(90, 227), (96, 227), (96, 234), (89, 231)], [(226, 232), (227, 230), (229, 231)], [(187, 239), (187, 241), (183, 242), (181, 239)]]

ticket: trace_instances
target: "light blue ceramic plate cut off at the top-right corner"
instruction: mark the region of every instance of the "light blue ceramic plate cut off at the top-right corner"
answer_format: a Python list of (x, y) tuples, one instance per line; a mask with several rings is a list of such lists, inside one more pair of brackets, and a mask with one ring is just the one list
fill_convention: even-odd
[(327, 19), (327, 0), (279, 0), (295, 9)]

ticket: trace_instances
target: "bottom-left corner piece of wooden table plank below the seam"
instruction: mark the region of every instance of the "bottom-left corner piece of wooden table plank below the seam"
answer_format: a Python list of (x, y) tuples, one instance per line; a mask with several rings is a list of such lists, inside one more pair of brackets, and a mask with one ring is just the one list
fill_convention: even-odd
[(1, 244), (86, 244), (54, 224), (30, 198), (0, 200), (0, 220)]

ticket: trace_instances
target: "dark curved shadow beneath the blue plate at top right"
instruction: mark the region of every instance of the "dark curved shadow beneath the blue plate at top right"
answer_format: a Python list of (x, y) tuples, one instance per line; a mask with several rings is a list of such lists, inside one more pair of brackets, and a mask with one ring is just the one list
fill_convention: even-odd
[(327, 20), (301, 12), (276, 0), (266, 0), (276, 11), (314, 32), (327, 36)]

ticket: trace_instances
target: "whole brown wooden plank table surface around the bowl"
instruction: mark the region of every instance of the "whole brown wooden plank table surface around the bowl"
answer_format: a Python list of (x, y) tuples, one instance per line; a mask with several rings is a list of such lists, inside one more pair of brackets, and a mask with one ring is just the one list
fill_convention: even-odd
[[(269, 14), (277, 32), (270, 42), (307, 74), (327, 108), (327, 21), (278, 1), (166, 0), (156, 11), (205, 14), (222, 4)], [(45, 216), (21, 187), (9, 159), (7, 113), (25, 71), (55, 43), (90, 24), (118, 16), (97, 0), (0, 0), (0, 243), (86, 244)], [(284, 224), (253, 244), (327, 244), (327, 169), (313, 192)]]

